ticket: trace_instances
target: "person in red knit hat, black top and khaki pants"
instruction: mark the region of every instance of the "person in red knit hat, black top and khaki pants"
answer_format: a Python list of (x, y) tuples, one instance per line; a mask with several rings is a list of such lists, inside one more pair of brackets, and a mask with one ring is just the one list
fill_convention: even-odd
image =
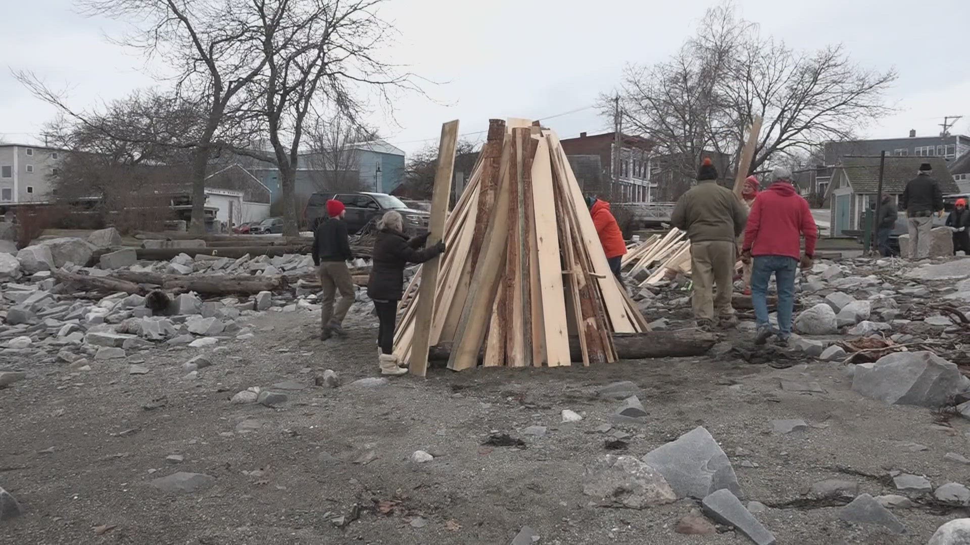
[[(320, 340), (327, 340), (333, 334), (347, 336), (343, 331), (343, 318), (350, 305), (354, 304), (354, 282), (347, 269), (347, 260), (353, 255), (350, 253), (347, 224), (343, 221), (344, 213), (343, 203), (334, 199), (327, 201), (327, 219), (320, 221), (313, 230), (313, 265), (317, 266), (323, 288)], [(335, 307), (334, 299), (338, 291), (340, 301)]]

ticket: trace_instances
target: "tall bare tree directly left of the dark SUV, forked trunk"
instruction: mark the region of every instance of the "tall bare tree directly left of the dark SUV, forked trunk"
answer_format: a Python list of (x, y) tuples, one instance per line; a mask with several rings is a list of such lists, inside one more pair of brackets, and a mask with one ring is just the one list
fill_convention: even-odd
[(361, 95), (387, 103), (392, 88), (420, 90), (411, 75), (377, 54), (392, 27), (376, 15), (384, 0), (249, 0), (262, 37), (265, 70), (251, 90), (279, 169), (283, 234), (298, 233), (295, 179), (307, 118), (322, 104), (357, 122)]

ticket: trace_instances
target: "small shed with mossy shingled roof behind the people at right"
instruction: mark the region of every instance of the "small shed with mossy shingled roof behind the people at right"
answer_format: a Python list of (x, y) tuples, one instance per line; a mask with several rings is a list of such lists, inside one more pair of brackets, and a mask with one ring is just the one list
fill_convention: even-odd
[[(944, 195), (958, 191), (943, 157), (887, 155), (883, 194), (898, 203), (906, 183), (917, 176), (922, 163), (933, 167), (932, 176), (940, 182)], [(862, 229), (862, 212), (875, 207), (878, 188), (879, 157), (844, 157), (832, 170), (832, 180), (825, 191), (831, 211), (829, 236), (839, 237), (844, 231)]]

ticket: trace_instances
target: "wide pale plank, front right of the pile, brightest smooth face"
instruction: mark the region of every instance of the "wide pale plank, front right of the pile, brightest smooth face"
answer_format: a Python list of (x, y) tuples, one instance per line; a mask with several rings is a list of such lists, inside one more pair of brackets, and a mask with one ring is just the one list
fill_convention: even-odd
[(549, 367), (564, 366), (569, 364), (566, 301), (563, 294), (556, 210), (550, 206), (555, 203), (555, 194), (550, 149), (545, 138), (540, 138), (536, 144), (532, 180), (546, 364)]

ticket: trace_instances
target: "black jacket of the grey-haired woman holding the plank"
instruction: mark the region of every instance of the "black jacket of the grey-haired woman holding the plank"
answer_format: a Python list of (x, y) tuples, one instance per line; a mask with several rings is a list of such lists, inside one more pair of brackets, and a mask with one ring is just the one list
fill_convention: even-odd
[(404, 292), (404, 266), (408, 263), (424, 263), (441, 253), (436, 246), (417, 249), (425, 240), (428, 240), (427, 234), (408, 240), (397, 231), (381, 229), (377, 232), (371, 252), (371, 277), (367, 282), (367, 295), (371, 299), (401, 299)]

